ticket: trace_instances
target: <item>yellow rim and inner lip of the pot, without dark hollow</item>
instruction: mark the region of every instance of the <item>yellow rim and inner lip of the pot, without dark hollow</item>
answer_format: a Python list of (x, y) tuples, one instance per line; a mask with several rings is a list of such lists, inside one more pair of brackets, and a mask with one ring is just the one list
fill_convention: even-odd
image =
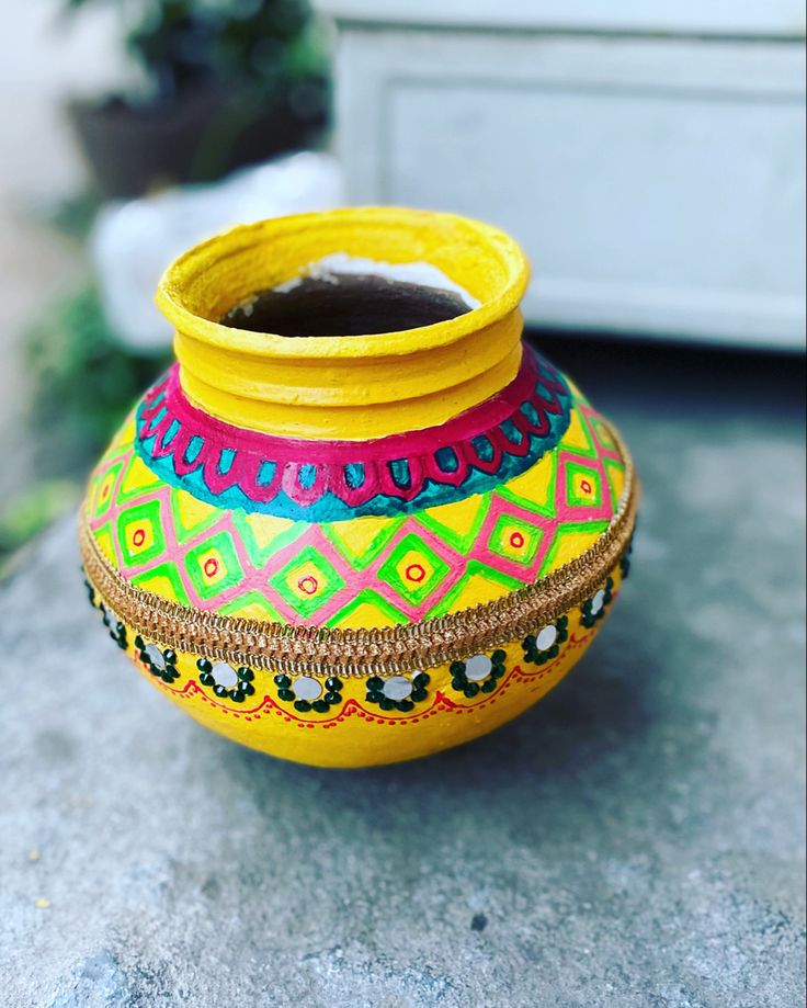
[[(293, 260), (300, 236), (315, 243), (321, 242), (321, 249), (315, 258), (300, 256), (291, 276), (304, 275), (306, 267), (336, 251), (378, 261), (427, 261), (440, 265), (480, 304), (456, 318), (414, 329), (316, 338), (254, 332), (225, 326), (208, 317), (221, 318), (226, 310), (243, 299), (246, 293), (236, 297), (225, 310), (219, 307), (204, 312), (195, 307), (194, 302), (200, 299), (197, 285), (202, 285), (204, 293), (205, 279), (212, 272), (226, 272), (228, 264), (239, 257), (252, 257), (261, 249), (271, 252), (273, 247)], [(368, 246), (375, 247), (378, 254), (367, 256), (363, 250)], [(387, 246), (389, 250), (385, 251)], [(307, 246), (303, 243), (302, 247)], [(435, 258), (442, 260), (443, 265), (434, 262)], [(266, 262), (272, 260), (268, 258)], [(505, 318), (518, 309), (528, 272), (519, 245), (504, 231), (480, 220), (404, 207), (340, 207), (241, 225), (196, 245), (166, 270), (156, 302), (179, 333), (228, 351), (309, 360), (389, 356), (445, 347)], [(291, 276), (275, 278), (269, 285)], [(223, 285), (216, 280), (209, 286), (220, 290)]]

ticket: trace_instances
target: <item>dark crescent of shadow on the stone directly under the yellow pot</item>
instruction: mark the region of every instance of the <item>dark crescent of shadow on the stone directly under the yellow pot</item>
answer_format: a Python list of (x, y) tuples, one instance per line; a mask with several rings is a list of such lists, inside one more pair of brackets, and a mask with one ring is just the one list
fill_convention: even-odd
[(645, 745), (657, 717), (650, 683), (660, 675), (658, 659), (632, 635), (615, 635), (609, 645), (589, 652), (524, 714), (462, 746), (359, 770), (306, 767), (234, 747), (231, 772), (249, 779), (259, 805), (264, 791), (276, 797), (283, 789), (333, 809), (364, 807), (371, 816), (390, 796), (398, 807), (417, 806), (427, 791), (436, 808), (464, 795), (475, 803), (514, 790), (534, 795), (544, 783), (556, 788), (558, 780), (570, 781), (614, 752)]

